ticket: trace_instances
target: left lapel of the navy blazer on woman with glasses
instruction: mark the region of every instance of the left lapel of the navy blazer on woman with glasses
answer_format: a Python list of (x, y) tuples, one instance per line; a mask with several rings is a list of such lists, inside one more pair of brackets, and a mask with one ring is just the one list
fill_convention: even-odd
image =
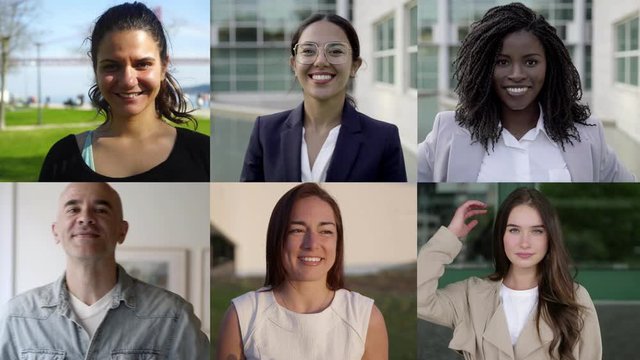
[(304, 103), (289, 113), (285, 127), (280, 135), (280, 153), (284, 158), (284, 181), (300, 181), (300, 149), (302, 148), (302, 124)]

